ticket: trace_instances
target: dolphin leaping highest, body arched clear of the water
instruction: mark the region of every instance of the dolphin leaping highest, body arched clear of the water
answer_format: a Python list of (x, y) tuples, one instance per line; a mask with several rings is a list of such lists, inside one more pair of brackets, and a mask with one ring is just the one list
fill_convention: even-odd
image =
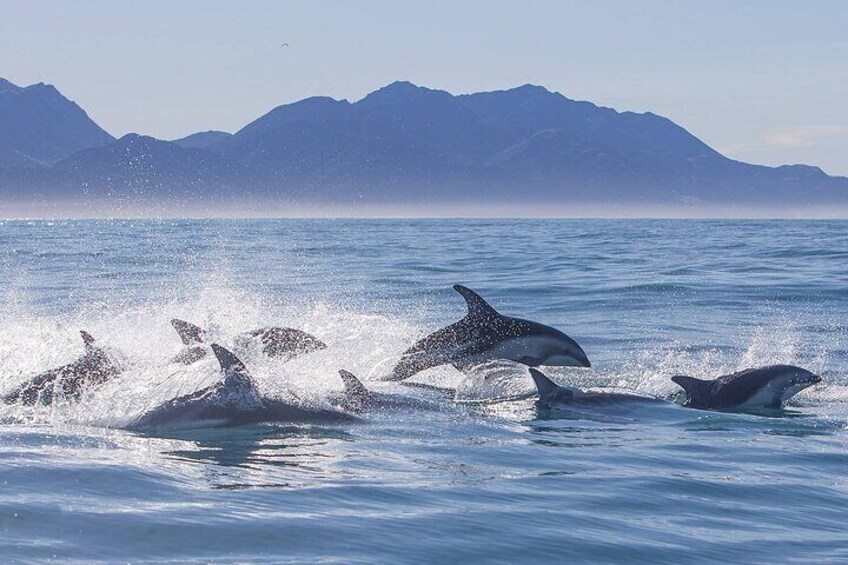
[(384, 380), (400, 381), (439, 365), (459, 370), (503, 359), (530, 367), (590, 367), (576, 341), (544, 324), (499, 314), (479, 294), (454, 285), (468, 304), (468, 314), (407, 349)]

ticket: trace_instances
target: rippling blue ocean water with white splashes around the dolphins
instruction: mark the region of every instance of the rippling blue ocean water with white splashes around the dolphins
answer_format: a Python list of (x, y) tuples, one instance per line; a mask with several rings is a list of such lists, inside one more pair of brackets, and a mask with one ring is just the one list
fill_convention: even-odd
[[(0, 407), (3, 562), (848, 561), (848, 222), (7, 221), (0, 283), (0, 390), (79, 356), (80, 329), (124, 368), (78, 404)], [(776, 417), (545, 412), (509, 366), (377, 382), (464, 315), (455, 283), (576, 339), (593, 367), (547, 371), (563, 384), (679, 401), (671, 375), (771, 363), (824, 382)], [(218, 378), (168, 363), (172, 317), (328, 344), (246, 358), (268, 394), (323, 403), (344, 368), (421, 406), (125, 431)]]

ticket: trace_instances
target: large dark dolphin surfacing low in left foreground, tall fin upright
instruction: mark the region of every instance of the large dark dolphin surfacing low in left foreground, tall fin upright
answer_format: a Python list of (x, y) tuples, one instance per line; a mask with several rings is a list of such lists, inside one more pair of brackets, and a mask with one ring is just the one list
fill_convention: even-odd
[(347, 422), (344, 412), (299, 406), (262, 395), (244, 363), (213, 343), (222, 379), (204, 389), (160, 404), (142, 414), (128, 427), (132, 430), (179, 430), (218, 428), (266, 422)]

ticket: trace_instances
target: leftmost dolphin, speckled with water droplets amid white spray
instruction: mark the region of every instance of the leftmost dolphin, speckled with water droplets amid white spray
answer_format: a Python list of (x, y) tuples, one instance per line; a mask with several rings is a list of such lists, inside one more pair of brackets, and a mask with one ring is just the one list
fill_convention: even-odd
[(86, 331), (80, 331), (85, 354), (82, 357), (29, 379), (3, 396), (6, 404), (21, 403), (24, 406), (35, 404), (49, 405), (57, 397), (79, 400), (86, 389), (105, 383), (121, 372), (121, 368), (100, 347), (94, 345), (94, 338)]

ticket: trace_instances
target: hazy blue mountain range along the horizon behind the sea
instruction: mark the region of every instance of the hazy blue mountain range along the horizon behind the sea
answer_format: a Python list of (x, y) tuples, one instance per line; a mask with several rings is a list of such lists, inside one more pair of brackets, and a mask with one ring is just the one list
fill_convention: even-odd
[(164, 141), (115, 139), (55, 87), (0, 79), (0, 201), (793, 209), (848, 204), (848, 179), (734, 161), (662, 116), (532, 85), (395, 82)]

